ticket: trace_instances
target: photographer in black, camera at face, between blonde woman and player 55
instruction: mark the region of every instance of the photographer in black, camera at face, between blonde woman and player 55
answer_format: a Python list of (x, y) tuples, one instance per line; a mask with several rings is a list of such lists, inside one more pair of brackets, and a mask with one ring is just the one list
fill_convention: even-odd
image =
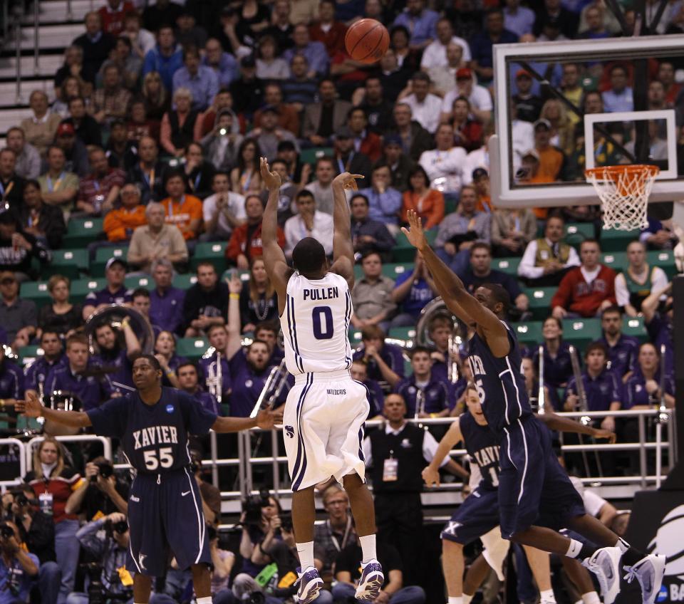
[(127, 501), (128, 485), (116, 478), (112, 462), (95, 457), (86, 464), (86, 480), (74, 491), (70, 507), (84, 512), (90, 521), (98, 512), (105, 516), (115, 511), (128, 514)]

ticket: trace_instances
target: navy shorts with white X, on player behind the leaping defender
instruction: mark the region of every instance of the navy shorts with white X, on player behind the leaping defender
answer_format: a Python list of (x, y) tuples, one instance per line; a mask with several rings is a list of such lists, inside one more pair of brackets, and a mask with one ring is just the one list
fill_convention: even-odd
[(497, 491), (478, 485), (452, 514), (442, 531), (442, 539), (465, 546), (499, 526), (498, 499)]

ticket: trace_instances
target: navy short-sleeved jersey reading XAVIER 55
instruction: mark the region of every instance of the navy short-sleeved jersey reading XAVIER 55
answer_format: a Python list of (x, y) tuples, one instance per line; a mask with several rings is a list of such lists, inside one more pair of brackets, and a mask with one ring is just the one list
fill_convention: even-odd
[(121, 440), (128, 462), (143, 474), (164, 474), (190, 464), (189, 434), (206, 434), (216, 421), (186, 392), (162, 388), (160, 400), (146, 405), (138, 392), (113, 398), (88, 411), (95, 434)]

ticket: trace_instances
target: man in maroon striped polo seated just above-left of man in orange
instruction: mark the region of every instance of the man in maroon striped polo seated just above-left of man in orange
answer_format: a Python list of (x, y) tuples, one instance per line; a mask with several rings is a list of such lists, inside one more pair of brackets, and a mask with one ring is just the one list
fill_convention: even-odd
[(93, 173), (81, 180), (76, 208), (87, 216), (106, 214), (114, 207), (126, 175), (119, 168), (110, 168), (107, 156), (100, 147), (90, 151)]

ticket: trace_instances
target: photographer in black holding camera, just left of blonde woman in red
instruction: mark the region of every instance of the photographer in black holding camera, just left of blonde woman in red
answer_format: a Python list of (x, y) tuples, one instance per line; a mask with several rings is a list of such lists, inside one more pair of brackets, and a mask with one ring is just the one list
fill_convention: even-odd
[(38, 585), (41, 604), (56, 604), (62, 573), (55, 556), (55, 524), (51, 516), (38, 509), (33, 489), (24, 484), (3, 497), (7, 515), (14, 519), (21, 541), (38, 557)]

